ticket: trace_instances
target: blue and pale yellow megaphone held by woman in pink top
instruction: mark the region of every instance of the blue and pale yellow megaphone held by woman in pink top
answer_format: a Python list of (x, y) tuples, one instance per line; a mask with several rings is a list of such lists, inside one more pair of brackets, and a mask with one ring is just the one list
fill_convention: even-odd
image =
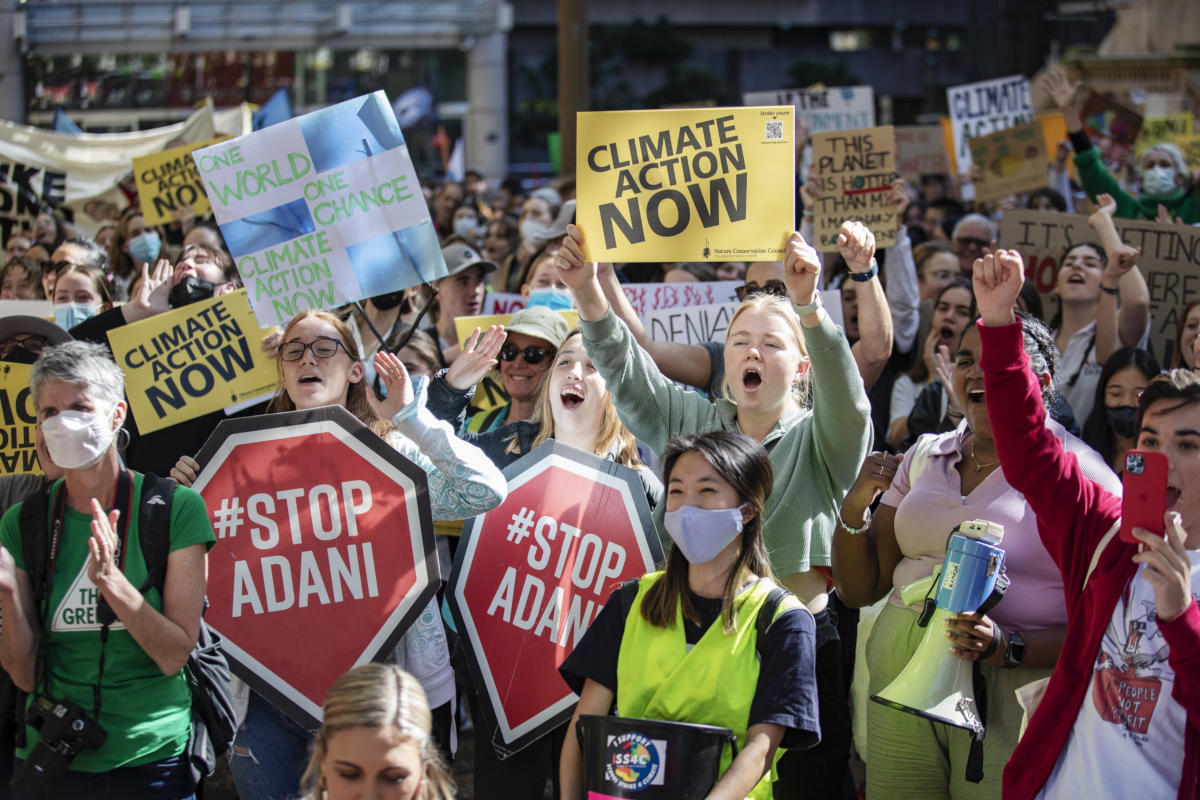
[[(942, 569), (900, 590), (905, 606), (925, 606), (917, 624), (925, 636), (917, 651), (887, 688), (871, 699), (889, 708), (965, 728), (977, 741), (984, 734), (976, 708), (972, 662), (959, 658), (946, 645), (946, 620), (952, 614), (979, 610), (1004, 576), (1004, 528), (985, 519), (959, 524), (950, 534)], [(1001, 587), (1007, 587), (1003, 577)], [(930, 591), (937, 593), (930, 597)], [(1001, 589), (1003, 590), (1003, 589)]]

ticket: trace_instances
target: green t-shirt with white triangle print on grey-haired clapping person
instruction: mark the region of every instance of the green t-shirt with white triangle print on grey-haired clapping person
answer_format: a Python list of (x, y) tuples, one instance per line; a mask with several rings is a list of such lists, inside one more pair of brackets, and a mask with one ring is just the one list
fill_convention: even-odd
[[(56, 494), (62, 487), (59, 481)], [(142, 475), (134, 473), (133, 509), (142, 507)], [(47, 530), (53, 530), (54, 498), (47, 515)], [(18, 522), (20, 504), (10, 509), (0, 519), (0, 543), (17, 566), (25, 569)], [(48, 668), (38, 691), (52, 698), (77, 703), (91, 716), (92, 685), (100, 666), (100, 622), (96, 621), (96, 587), (88, 578), (88, 540), (91, 537), (91, 515), (66, 507), (62, 539), (50, 583), (47, 637)], [(170, 506), (170, 552), (191, 545), (212, 547), (216, 539), (209, 523), (208, 510), (200, 495), (178, 487)], [(124, 547), (125, 575), (130, 583), (140, 587), (146, 577), (145, 560), (138, 537), (138, 516), (130, 519)], [(162, 610), (157, 589), (145, 593), (146, 602)], [(182, 670), (164, 675), (154, 660), (118, 620), (108, 632), (104, 654), (104, 680), (101, 685), (100, 726), (108, 738), (100, 750), (85, 750), (71, 762), (80, 772), (107, 772), (119, 766), (150, 764), (182, 752), (191, 733), (192, 698)], [(17, 751), (25, 758), (37, 742), (37, 730), (26, 729), (26, 746)]]

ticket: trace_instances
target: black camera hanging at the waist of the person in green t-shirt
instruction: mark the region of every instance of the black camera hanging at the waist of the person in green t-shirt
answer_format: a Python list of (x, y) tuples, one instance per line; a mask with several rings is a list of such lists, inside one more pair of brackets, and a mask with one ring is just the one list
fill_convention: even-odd
[(25, 721), (41, 739), (17, 770), (12, 784), (46, 788), (58, 781), (82, 750), (100, 750), (108, 734), (71, 700), (38, 694), (25, 709)]

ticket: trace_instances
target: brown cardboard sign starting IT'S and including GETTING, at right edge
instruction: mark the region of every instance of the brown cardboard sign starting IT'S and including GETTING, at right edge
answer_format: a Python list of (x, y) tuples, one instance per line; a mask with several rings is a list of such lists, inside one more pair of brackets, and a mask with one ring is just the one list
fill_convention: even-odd
[[(1138, 266), (1150, 288), (1150, 349), (1159, 363), (1169, 365), (1180, 312), (1200, 295), (1200, 228), (1145, 219), (1115, 222), (1122, 241), (1141, 247)], [(1000, 246), (1021, 253), (1026, 276), (1045, 297), (1054, 291), (1067, 247), (1096, 239), (1087, 217), (1079, 215), (1007, 211), (1000, 221)]]

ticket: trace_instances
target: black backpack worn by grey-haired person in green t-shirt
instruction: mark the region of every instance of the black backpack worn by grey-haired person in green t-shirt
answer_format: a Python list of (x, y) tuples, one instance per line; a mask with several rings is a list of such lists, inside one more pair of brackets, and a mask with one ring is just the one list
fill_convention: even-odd
[[(49, 511), (50, 488), (28, 498), (20, 507), (20, 546), (25, 554), (25, 571), (34, 585), (34, 604), (41, 613), (46, 597), (38, 596), (43, 585), (41, 576), (47, 569), (46, 516)], [(145, 594), (157, 589), (162, 595), (167, 582), (167, 557), (170, 554), (170, 505), (175, 482), (145, 473), (142, 477), (142, 504), (138, 511), (138, 543), (146, 564), (146, 579), (138, 587)], [(48, 585), (48, 583), (47, 583)], [(208, 608), (208, 601), (205, 601)], [(200, 632), (196, 648), (187, 657), (184, 675), (192, 693), (192, 735), (187, 744), (187, 757), (192, 777), (212, 775), (216, 759), (233, 745), (238, 732), (234, 711), (229, 662), (221, 649), (221, 636), (200, 618)], [(17, 714), (24, 714), (24, 697), (17, 703)], [(24, 730), (23, 720), (18, 735)]]

